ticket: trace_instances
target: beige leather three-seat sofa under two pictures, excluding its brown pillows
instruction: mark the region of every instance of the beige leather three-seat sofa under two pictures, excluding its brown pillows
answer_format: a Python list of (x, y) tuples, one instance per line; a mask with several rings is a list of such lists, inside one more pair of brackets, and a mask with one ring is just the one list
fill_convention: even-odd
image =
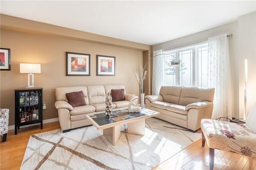
[[(58, 87), (55, 89), (56, 102), (58, 109), (59, 124), (63, 132), (70, 129), (91, 125), (87, 119), (87, 114), (105, 111), (105, 96), (112, 89), (125, 89), (123, 85), (106, 86), (76, 86)], [(67, 100), (66, 93), (82, 91), (86, 106), (72, 107)], [(124, 90), (125, 93), (125, 90)], [(125, 101), (113, 102), (113, 110), (127, 108), (130, 101), (138, 104), (138, 96), (125, 93)]]

